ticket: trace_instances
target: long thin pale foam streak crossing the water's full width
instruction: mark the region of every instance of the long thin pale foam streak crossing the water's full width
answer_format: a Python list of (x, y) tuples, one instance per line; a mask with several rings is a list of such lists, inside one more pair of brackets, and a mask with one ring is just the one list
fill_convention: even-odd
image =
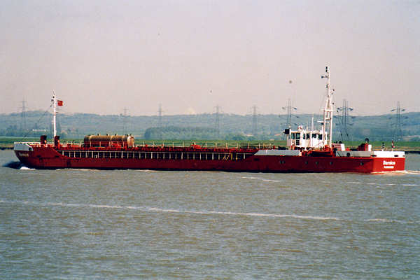
[[(104, 208), (104, 209), (130, 209), (130, 210), (139, 210), (146, 212), (160, 212), (160, 213), (169, 213), (169, 214), (195, 214), (195, 215), (221, 215), (221, 216), (251, 216), (251, 217), (262, 217), (262, 218), (295, 218), (300, 220), (316, 220), (316, 221), (349, 221), (349, 222), (360, 222), (352, 221), (343, 218), (335, 217), (321, 217), (321, 216), (301, 216), (295, 214), (265, 214), (265, 213), (245, 213), (245, 212), (225, 212), (225, 211), (197, 211), (197, 210), (178, 210), (178, 209), (162, 209), (158, 207), (135, 207), (135, 206), (119, 206), (119, 205), (103, 205), (103, 204), (66, 204), (62, 202), (28, 202), (28, 201), (5, 201), (0, 200), (0, 203), (3, 204), (25, 204), (25, 205), (34, 205), (41, 207), (90, 207), (90, 208)], [(398, 220), (388, 220), (386, 218), (373, 218), (362, 220), (363, 222), (373, 222), (373, 223), (419, 223), (413, 221), (398, 221)]]

